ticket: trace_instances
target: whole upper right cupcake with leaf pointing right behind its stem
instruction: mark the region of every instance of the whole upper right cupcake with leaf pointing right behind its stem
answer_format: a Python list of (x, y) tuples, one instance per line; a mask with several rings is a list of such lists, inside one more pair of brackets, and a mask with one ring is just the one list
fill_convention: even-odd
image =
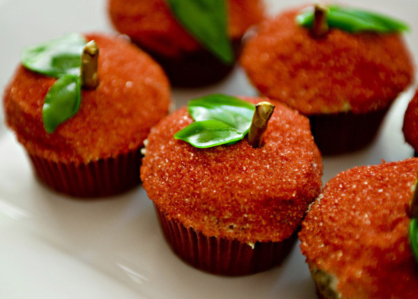
[(316, 18), (312, 10), (287, 10), (265, 20), (240, 63), (261, 94), (309, 117), (323, 154), (355, 151), (373, 140), (390, 105), (413, 79), (412, 59), (399, 34), (406, 26), (352, 8), (316, 8)]

